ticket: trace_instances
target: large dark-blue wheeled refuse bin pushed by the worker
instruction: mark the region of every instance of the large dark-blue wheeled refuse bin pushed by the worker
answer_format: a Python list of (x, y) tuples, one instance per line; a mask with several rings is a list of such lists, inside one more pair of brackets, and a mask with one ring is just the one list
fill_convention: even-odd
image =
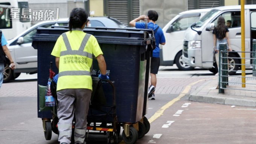
[[(43, 70), (49, 68), (50, 61), (54, 62), (55, 57), (50, 53), (58, 37), (66, 31), (68, 31), (67, 27), (37, 29), (32, 46), (38, 49), (38, 84), (44, 85), (47, 74)], [(109, 132), (110, 142), (117, 142), (117, 135), (122, 126), (123, 141), (133, 144), (150, 129), (150, 124), (144, 116), (148, 99), (150, 57), (152, 49), (155, 48), (153, 31), (131, 28), (85, 28), (84, 32), (92, 34), (98, 40), (107, 63), (107, 73), (115, 85), (116, 95), (116, 112), (111, 107), (104, 108), (104, 111), (112, 114), (104, 116), (104, 122), (102, 122), (104, 112), (90, 108), (87, 129)], [(53, 71), (58, 72), (56, 68), (53, 68)], [(98, 63), (94, 60), (91, 75), (98, 77), (98, 74)], [(114, 104), (112, 86), (102, 83), (102, 87), (106, 105)], [(56, 132), (56, 128), (52, 126), (55, 123), (52, 115), (50, 110), (38, 111), (38, 117), (42, 118), (44, 131), (48, 135), (51, 134), (49, 129)], [(114, 119), (113, 115), (115, 115)], [(97, 125), (97, 123), (101, 124)], [(50, 139), (49, 137), (46, 136)]]

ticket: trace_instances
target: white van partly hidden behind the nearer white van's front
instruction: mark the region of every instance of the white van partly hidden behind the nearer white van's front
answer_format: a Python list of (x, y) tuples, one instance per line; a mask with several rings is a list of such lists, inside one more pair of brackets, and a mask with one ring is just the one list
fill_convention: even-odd
[(192, 23), (197, 22), (211, 9), (187, 10), (179, 13), (163, 28), (166, 43), (160, 45), (160, 65), (172, 66), (176, 64), (180, 70), (192, 70), (194, 67), (183, 65), (182, 47), (185, 30)]

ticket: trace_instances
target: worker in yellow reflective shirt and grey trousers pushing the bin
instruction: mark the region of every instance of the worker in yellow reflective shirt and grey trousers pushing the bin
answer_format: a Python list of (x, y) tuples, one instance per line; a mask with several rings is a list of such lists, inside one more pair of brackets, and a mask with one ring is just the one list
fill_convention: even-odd
[(75, 113), (75, 144), (85, 144), (87, 114), (92, 91), (90, 68), (93, 55), (96, 57), (101, 74), (99, 78), (109, 80), (106, 63), (94, 36), (84, 33), (88, 19), (82, 8), (74, 8), (70, 13), (69, 31), (59, 36), (52, 50), (59, 74), (53, 78), (57, 83), (58, 130), (60, 144), (70, 144), (72, 121)]

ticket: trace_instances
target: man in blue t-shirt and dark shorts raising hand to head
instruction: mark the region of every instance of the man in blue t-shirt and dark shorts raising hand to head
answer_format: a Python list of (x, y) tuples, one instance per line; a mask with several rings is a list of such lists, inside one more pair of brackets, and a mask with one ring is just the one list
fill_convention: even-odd
[[(160, 66), (160, 48), (159, 44), (165, 45), (165, 36), (163, 35), (163, 30), (160, 28), (155, 21), (158, 19), (158, 13), (155, 10), (149, 10), (148, 16), (141, 15), (140, 17), (130, 21), (130, 26), (136, 27), (136, 28), (152, 28), (154, 30), (154, 36), (155, 36), (155, 43), (156, 47), (153, 50), (153, 57), (151, 58), (151, 67), (150, 67), (150, 77), (151, 77), (151, 86), (148, 90), (148, 99), (155, 99), (154, 91), (155, 87), (157, 85), (157, 77), (156, 74), (158, 73), (158, 69)], [(148, 24), (145, 23), (139, 23), (138, 21), (148, 21)]]

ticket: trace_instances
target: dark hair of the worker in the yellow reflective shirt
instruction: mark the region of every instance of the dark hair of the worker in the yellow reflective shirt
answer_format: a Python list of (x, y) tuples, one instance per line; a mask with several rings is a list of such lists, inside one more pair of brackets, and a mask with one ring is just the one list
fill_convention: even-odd
[(81, 28), (83, 24), (87, 21), (88, 15), (85, 9), (74, 8), (70, 12), (69, 16), (69, 30), (72, 31), (72, 28)]

